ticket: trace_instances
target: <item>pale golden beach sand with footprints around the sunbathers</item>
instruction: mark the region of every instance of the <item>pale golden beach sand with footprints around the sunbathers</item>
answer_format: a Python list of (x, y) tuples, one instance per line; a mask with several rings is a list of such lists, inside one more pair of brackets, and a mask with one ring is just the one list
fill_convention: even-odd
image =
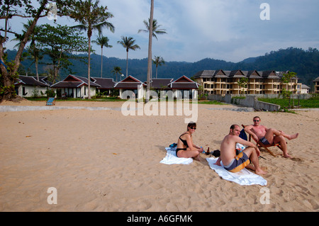
[[(4, 105), (45, 106), (44, 101)], [(220, 148), (230, 125), (262, 124), (286, 133), (293, 159), (259, 159), (267, 186), (225, 181), (203, 162), (159, 163), (186, 131), (184, 115), (128, 115), (123, 102), (57, 101), (56, 106), (108, 107), (0, 112), (0, 211), (318, 211), (319, 111), (213, 110), (198, 104), (196, 145)], [(208, 109), (210, 108), (210, 109)], [(270, 147), (275, 154), (282, 152)], [(205, 155), (202, 155), (205, 158)], [(57, 204), (48, 204), (48, 188)], [(269, 188), (262, 204), (261, 188)]]

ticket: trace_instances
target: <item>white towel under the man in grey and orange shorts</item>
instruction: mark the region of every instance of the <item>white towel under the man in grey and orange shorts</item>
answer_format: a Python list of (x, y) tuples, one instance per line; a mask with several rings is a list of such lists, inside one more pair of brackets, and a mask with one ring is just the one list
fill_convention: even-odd
[(215, 170), (216, 173), (221, 176), (223, 179), (227, 181), (233, 181), (235, 183), (239, 183), (240, 185), (252, 185), (252, 184), (259, 184), (262, 186), (267, 185), (267, 181), (262, 178), (262, 176), (259, 176), (257, 174), (252, 173), (251, 171), (247, 169), (242, 169), (241, 171), (237, 173), (232, 173), (230, 171), (227, 171), (223, 167), (223, 163), (220, 162), (222, 166), (216, 165), (216, 161), (218, 158), (206, 158), (209, 166), (211, 166), (211, 169)]

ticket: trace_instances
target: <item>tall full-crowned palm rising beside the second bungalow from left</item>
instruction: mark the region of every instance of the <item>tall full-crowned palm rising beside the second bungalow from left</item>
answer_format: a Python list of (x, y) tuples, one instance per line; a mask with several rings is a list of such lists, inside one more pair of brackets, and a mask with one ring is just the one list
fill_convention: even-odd
[(80, 24), (73, 26), (79, 30), (87, 30), (87, 37), (89, 38), (89, 51), (88, 51), (88, 98), (91, 98), (90, 87), (90, 66), (91, 66), (91, 36), (93, 30), (98, 30), (99, 34), (102, 32), (102, 28), (108, 28), (114, 33), (114, 26), (109, 23), (108, 18), (112, 18), (113, 15), (108, 12), (108, 8), (105, 6), (99, 6), (99, 0), (93, 3), (91, 0), (79, 0), (74, 2), (74, 9), (70, 13), (70, 17), (74, 18), (76, 22)]

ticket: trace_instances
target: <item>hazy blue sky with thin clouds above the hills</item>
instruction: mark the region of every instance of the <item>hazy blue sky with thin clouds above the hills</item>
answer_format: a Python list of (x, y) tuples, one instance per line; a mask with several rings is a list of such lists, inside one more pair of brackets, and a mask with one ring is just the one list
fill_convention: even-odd
[[(150, 0), (100, 0), (100, 5), (108, 6), (113, 14), (109, 22), (115, 27), (114, 33), (103, 30), (113, 46), (103, 47), (103, 55), (126, 59), (125, 48), (117, 42), (128, 36), (140, 46), (140, 50), (130, 50), (128, 58), (147, 58), (148, 34), (138, 30), (145, 29), (143, 21), (150, 18)], [(318, 9), (318, 0), (155, 0), (154, 18), (167, 34), (153, 38), (152, 57), (163, 57), (166, 62), (204, 58), (240, 62), (287, 47), (319, 49)], [(11, 26), (22, 30), (21, 22), (26, 23), (11, 20)], [(39, 23), (53, 24), (48, 18)], [(58, 17), (57, 23), (75, 24), (65, 17)], [(6, 47), (13, 45), (10, 42)], [(101, 47), (93, 44), (93, 48), (101, 55)]]

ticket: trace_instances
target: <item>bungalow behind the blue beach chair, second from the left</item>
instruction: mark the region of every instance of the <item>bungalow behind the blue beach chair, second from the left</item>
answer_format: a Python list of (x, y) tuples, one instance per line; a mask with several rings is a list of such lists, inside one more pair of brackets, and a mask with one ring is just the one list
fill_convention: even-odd
[[(88, 97), (88, 79), (84, 77), (75, 76), (69, 74), (62, 81), (58, 81), (55, 84), (52, 84), (51, 88), (55, 89), (55, 93), (58, 97), (67, 96), (72, 98), (86, 98)], [(96, 84), (96, 79), (90, 79), (90, 91), (91, 96), (96, 95), (96, 88), (101, 87), (99, 84)]]

